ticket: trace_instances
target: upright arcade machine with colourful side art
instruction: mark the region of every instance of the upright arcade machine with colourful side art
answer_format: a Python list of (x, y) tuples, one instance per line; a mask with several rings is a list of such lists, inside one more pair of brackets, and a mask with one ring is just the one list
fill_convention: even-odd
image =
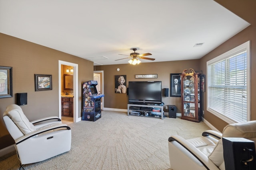
[(96, 121), (101, 117), (100, 99), (104, 94), (98, 94), (97, 84), (94, 80), (83, 83), (82, 120)]

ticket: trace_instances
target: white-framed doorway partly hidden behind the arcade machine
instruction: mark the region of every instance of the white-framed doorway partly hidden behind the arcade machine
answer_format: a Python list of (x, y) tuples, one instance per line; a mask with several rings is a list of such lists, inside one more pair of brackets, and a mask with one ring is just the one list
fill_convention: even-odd
[[(98, 82), (96, 86), (98, 93), (104, 94), (104, 71), (94, 71), (93, 80)], [(100, 108), (104, 110), (104, 97), (100, 99)]]

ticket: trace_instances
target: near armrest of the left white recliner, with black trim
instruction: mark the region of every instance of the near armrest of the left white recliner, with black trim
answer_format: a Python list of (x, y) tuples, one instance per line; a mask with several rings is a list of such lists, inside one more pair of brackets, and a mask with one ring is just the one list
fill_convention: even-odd
[(39, 134), (47, 132), (47, 131), (59, 129), (59, 128), (66, 128), (65, 130), (70, 130), (70, 127), (68, 127), (66, 124), (56, 124), (56, 125), (49, 126), (46, 128), (38, 129), (32, 133), (28, 133), (27, 135), (24, 135), (24, 136), (20, 137), (19, 139), (15, 140), (15, 143), (16, 143), (16, 145), (18, 145), (19, 143), (26, 141), (27, 139), (29, 139), (31, 137), (34, 137), (36, 135), (39, 135)]

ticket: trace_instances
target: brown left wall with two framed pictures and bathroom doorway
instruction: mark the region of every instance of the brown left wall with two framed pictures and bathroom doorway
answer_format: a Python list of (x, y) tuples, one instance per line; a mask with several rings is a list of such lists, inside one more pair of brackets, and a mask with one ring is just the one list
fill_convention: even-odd
[[(16, 93), (28, 93), (28, 104), (21, 107), (29, 120), (58, 116), (59, 60), (78, 64), (78, 114), (81, 117), (82, 82), (93, 80), (93, 62), (0, 33), (0, 66), (13, 69), (13, 97), (0, 98), (0, 113), (16, 103)], [(34, 74), (51, 74), (52, 90), (35, 92)], [(1, 146), (5, 146), (2, 144), (8, 142), (4, 138), (8, 131), (2, 119), (0, 129), (2, 149)]]

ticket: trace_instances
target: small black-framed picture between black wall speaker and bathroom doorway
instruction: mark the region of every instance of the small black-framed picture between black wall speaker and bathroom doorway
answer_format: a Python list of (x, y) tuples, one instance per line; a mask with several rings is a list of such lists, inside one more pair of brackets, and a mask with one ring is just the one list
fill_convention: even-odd
[(35, 91), (52, 90), (52, 75), (35, 74)]

